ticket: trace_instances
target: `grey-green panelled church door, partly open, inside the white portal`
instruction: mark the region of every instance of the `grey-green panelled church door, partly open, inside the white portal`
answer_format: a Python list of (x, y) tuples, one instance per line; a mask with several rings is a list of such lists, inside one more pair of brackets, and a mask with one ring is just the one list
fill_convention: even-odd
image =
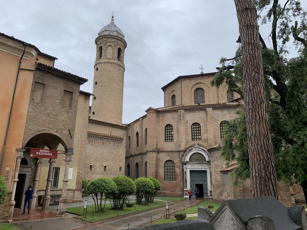
[(190, 170), (190, 188), (192, 197), (195, 197), (194, 189), (200, 190), (200, 198), (208, 197), (207, 170)]

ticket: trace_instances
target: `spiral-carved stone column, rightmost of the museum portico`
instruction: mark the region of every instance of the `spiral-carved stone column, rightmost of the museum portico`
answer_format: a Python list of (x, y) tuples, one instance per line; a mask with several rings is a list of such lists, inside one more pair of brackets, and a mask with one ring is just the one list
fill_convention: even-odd
[(69, 164), (72, 161), (72, 148), (65, 148), (65, 171), (64, 171), (64, 179), (63, 179), (63, 188), (62, 188), (62, 195), (59, 200), (59, 211), (56, 216), (66, 216), (66, 203), (67, 203), (67, 182), (68, 182), (68, 170)]

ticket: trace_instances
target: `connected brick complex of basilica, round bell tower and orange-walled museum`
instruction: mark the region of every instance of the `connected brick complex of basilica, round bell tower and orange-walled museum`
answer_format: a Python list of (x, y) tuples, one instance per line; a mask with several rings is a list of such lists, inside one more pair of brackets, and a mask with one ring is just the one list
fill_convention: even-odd
[[(0, 171), (9, 188), (0, 220), (12, 220), (29, 185), (33, 208), (42, 205), (48, 212), (49, 204), (59, 203), (58, 215), (64, 216), (67, 202), (81, 201), (83, 178), (121, 174), (157, 178), (163, 196), (184, 197), (197, 187), (201, 197), (215, 201), (251, 197), (249, 180), (231, 184), (236, 165), (226, 168), (217, 149), (225, 121), (244, 104), (238, 94), (226, 84), (211, 87), (215, 73), (178, 76), (162, 87), (164, 107), (149, 107), (139, 119), (122, 124), (127, 43), (113, 16), (95, 44), (93, 92), (88, 93), (80, 90), (87, 79), (54, 68), (56, 57), (0, 33), (0, 78), (6, 84), (0, 96), (7, 102), (1, 104)], [(31, 158), (30, 148), (64, 154), (56, 160)], [(285, 205), (304, 202), (300, 186), (279, 182), (278, 192)]]

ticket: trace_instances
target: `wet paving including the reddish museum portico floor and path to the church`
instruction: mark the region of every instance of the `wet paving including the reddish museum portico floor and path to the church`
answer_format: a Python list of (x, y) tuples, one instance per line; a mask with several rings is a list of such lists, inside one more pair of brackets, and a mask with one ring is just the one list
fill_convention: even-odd
[[(89, 200), (89, 199), (88, 199)], [(174, 211), (179, 212), (183, 209), (190, 208), (191, 206), (194, 206), (198, 203), (202, 202), (201, 201), (180, 201), (177, 203), (174, 203), (169, 206), (169, 213), (170, 217), (173, 218), (173, 213)], [(81, 206), (83, 203), (72, 203), (72, 204), (67, 204), (67, 206), (73, 205), (73, 206)], [(76, 229), (84, 229), (84, 230), (110, 230), (110, 229), (129, 229), (135, 228), (136, 226), (142, 226), (149, 224), (151, 221), (155, 221), (157, 219), (161, 219), (165, 216), (165, 206), (160, 207), (160, 208), (155, 208), (151, 209), (148, 211), (142, 211), (139, 213), (131, 213), (128, 214), (124, 217), (115, 217), (113, 219), (109, 220), (102, 220), (99, 222), (95, 223), (89, 223), (84, 220), (80, 220), (77, 218), (73, 218), (72, 214), (67, 213), (67, 216), (65, 218), (62, 217), (62, 219), (54, 219), (54, 218), (61, 218), (61, 217), (54, 217), (56, 216), (56, 210), (57, 205), (51, 206), (50, 208), (54, 208), (54, 210), (50, 209), (50, 212), (47, 212), (51, 218), (48, 219), (34, 219), (34, 216), (39, 217), (41, 215), (42, 218), (45, 218), (46, 213), (39, 212), (40, 209), (38, 210), (31, 210), (31, 214), (29, 214), (29, 219), (26, 219), (27, 217), (24, 217), (23, 220), (18, 219), (18, 217), (21, 215), (22, 216), (28, 216), (28, 214), (22, 215), (22, 210), (21, 214), (17, 213), (18, 209), (14, 211), (14, 222), (13, 225), (15, 227), (19, 227), (21, 229), (29, 228), (32, 226), (32, 230), (66, 230), (66, 229), (71, 229), (71, 230), (76, 230)], [(175, 209), (175, 210), (174, 210)], [(17, 211), (17, 212), (16, 212)], [(16, 212), (16, 220), (15, 220), (15, 212)], [(33, 216), (33, 217), (30, 217)], [(33, 218), (33, 219), (31, 219)], [(21, 223), (16, 223), (16, 221), (20, 220)], [(15, 223), (15, 224), (14, 224)]]

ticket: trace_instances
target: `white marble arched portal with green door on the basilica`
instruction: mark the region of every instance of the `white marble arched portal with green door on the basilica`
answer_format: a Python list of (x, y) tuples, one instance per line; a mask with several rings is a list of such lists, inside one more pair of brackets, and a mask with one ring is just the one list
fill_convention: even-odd
[[(199, 158), (199, 161), (193, 159), (190, 161), (190, 157), (193, 154), (201, 154), (204, 158)], [(204, 161), (205, 160), (205, 161)], [(191, 188), (191, 184), (195, 186), (197, 180), (192, 178), (193, 176), (199, 175), (199, 184), (203, 185), (204, 197), (212, 197), (212, 185), (211, 185), (211, 162), (210, 162), (210, 154), (208, 151), (202, 147), (200, 147), (197, 143), (187, 150), (182, 158), (183, 169), (185, 174), (185, 189), (184, 194), (187, 196), (188, 189)]]

